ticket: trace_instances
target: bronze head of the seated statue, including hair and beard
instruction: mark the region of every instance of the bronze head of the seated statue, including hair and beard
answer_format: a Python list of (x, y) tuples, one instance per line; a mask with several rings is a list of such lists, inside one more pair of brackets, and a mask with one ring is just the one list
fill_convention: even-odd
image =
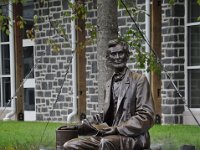
[(110, 40), (106, 52), (107, 64), (114, 69), (126, 66), (129, 58), (128, 44), (120, 39)]

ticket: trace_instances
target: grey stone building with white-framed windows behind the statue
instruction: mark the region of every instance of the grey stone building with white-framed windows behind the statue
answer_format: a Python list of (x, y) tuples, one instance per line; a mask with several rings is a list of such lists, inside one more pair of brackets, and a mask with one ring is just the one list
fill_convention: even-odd
[[(134, 0), (129, 5), (134, 4), (139, 9), (146, 10), (147, 1)], [(130, 1), (127, 2), (130, 3)], [(85, 2), (88, 11), (86, 24), (91, 23), (95, 26), (97, 23), (96, 3), (96, 0)], [(200, 16), (199, 5), (196, 0), (175, 0), (173, 5), (170, 5), (166, 0), (156, 0), (150, 4), (155, 9), (154, 11), (151, 10), (149, 22), (145, 21), (148, 17), (144, 12), (139, 13), (135, 19), (142, 31), (151, 31), (152, 45), (161, 55), (163, 65), (161, 77), (147, 74), (151, 85), (154, 85), (151, 87), (156, 104), (156, 113), (161, 117), (162, 124), (195, 124), (191, 112), (196, 117), (200, 116), (200, 95), (198, 94), (200, 89), (198, 82), (198, 73), (200, 73), (200, 53), (198, 52), (200, 23), (197, 20)], [(9, 15), (8, 6), (2, 5), (0, 8), (5, 14)], [(22, 92), (23, 107), (21, 107), (21, 111), (17, 111), (24, 114), (25, 120), (67, 121), (68, 115), (73, 111), (71, 19), (65, 15), (70, 13), (69, 5), (66, 0), (51, 0), (49, 2), (44, 1), (44, 3), (30, 0), (24, 4), (23, 10), (24, 19), (27, 22), (25, 29), (30, 29), (33, 25), (34, 15), (38, 16), (38, 20), (34, 40), (27, 39), (23, 34), (24, 54), (22, 58), (25, 82)], [(156, 19), (156, 16), (160, 19)], [(66, 33), (65, 38), (59, 36), (59, 31), (54, 29), (55, 26), (59, 25)], [(118, 26), (119, 33), (122, 35), (129, 28), (134, 27), (133, 21), (123, 6), (118, 8)], [(0, 110), (3, 112), (0, 118), (12, 114), (15, 103), (9, 103), (9, 99), (15, 95), (20, 85), (18, 84), (14, 88), (17, 82), (15, 66), (18, 64), (16, 64), (15, 57), (12, 55), (16, 55), (16, 52), (12, 52), (16, 51), (12, 46), (13, 35), (12, 32), (10, 32), (10, 36), (1, 32), (0, 36)], [(87, 37), (89, 37), (89, 31), (86, 29)], [(57, 47), (53, 47), (54, 44)], [(55, 51), (56, 48), (59, 52)], [(84, 61), (85, 67), (82, 66)], [(90, 117), (97, 113), (99, 106), (96, 44), (87, 45), (84, 56), (78, 56), (77, 62), (78, 82), (84, 83), (82, 77), (86, 77), (83, 84), (85, 85), (85, 96), (81, 100), (85, 101), (86, 107), (86, 111), (83, 111), (83, 113)], [(129, 62), (128, 66), (132, 70), (140, 70), (134, 67), (135, 63), (132, 61)], [(34, 71), (28, 74), (31, 68), (34, 68)], [(85, 68), (85, 70), (83, 71), (81, 68)], [(66, 71), (68, 73), (64, 78)], [(82, 74), (82, 72), (85, 73)], [(26, 78), (27, 74), (28, 77)], [(170, 79), (168, 76), (170, 76)], [(180, 93), (177, 93), (173, 84), (176, 85)], [(79, 98), (84, 93), (79, 89), (77, 93), (79, 108), (81, 107), (80, 104), (84, 105), (84, 102), (79, 103)], [(78, 112), (78, 117), (81, 113)], [(18, 116), (15, 112), (14, 114)], [(13, 118), (13, 115), (11, 115), (11, 118)]]

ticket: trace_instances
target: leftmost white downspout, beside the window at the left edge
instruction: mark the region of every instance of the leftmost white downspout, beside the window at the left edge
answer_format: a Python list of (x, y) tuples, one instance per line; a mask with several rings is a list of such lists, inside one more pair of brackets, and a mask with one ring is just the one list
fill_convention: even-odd
[[(10, 36), (9, 36), (9, 41), (10, 41), (10, 87), (11, 87), (11, 96), (15, 94), (15, 51), (14, 51), (14, 29), (13, 29), (13, 7), (12, 7), (12, 0), (9, 0), (9, 31), (10, 31)], [(11, 108), (12, 111), (3, 118), (3, 120), (10, 120), (12, 116), (15, 115), (16, 113), (16, 99), (15, 97), (12, 97), (11, 99)]]

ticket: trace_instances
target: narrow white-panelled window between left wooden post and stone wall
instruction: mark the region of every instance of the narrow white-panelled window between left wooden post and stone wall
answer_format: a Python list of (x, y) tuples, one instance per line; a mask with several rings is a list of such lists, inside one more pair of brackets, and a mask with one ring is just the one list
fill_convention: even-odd
[(36, 120), (35, 111), (35, 79), (34, 79), (34, 40), (27, 37), (26, 31), (33, 28), (34, 3), (28, 0), (23, 5), (23, 17), (26, 21), (23, 33), (23, 62), (24, 62), (24, 120)]

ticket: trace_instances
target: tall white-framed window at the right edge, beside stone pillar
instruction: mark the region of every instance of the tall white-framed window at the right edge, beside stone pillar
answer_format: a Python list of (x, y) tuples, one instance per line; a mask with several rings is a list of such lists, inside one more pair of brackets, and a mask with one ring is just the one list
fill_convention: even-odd
[(200, 6), (186, 2), (186, 98), (190, 108), (200, 108)]

